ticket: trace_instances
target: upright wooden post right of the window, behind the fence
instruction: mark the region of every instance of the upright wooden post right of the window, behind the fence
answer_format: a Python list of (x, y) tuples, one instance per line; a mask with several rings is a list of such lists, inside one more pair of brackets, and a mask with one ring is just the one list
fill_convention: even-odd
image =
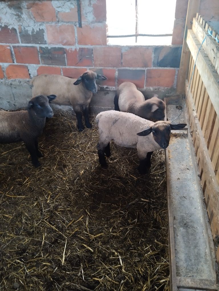
[(186, 37), (188, 29), (192, 28), (192, 20), (193, 17), (196, 16), (200, 7), (200, 0), (188, 0), (188, 9), (186, 15), (186, 26), (184, 32), (184, 40), (183, 40), (183, 47), (182, 47), (182, 54), (181, 60), (179, 65), (179, 73), (177, 78), (177, 94), (184, 94), (185, 93), (185, 81), (187, 79), (188, 74), (188, 65), (189, 65), (189, 58), (190, 52), (187, 50), (186, 45)]

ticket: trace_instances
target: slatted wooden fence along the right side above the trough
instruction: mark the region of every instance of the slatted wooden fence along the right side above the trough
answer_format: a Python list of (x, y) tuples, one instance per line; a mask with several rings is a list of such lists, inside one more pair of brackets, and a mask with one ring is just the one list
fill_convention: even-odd
[(219, 45), (208, 35), (208, 29), (212, 31), (213, 36), (217, 36), (217, 33), (197, 14), (186, 39), (191, 55), (185, 93), (202, 189), (219, 262), (217, 244), (219, 240)]

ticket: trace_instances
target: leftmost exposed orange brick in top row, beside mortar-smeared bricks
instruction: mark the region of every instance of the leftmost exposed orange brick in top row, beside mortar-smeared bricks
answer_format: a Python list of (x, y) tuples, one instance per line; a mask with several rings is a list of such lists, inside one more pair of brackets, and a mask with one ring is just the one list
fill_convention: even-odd
[(37, 22), (56, 21), (56, 10), (51, 1), (28, 3), (27, 8), (31, 8), (33, 17)]

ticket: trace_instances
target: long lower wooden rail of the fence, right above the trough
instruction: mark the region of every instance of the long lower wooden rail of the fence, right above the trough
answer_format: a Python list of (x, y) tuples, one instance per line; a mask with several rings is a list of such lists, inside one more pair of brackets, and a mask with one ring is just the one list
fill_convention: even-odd
[[(216, 215), (216, 217), (214, 218), (215, 219), (214, 229), (212, 229), (212, 232), (214, 232), (216, 228), (219, 229), (219, 217), (217, 216), (218, 209), (219, 209), (219, 185), (216, 179), (216, 175), (214, 173), (214, 169), (211, 163), (211, 159), (210, 159), (209, 152), (206, 146), (206, 142), (202, 134), (202, 129), (200, 127), (200, 124), (197, 118), (195, 105), (193, 103), (193, 98), (192, 98), (191, 92), (188, 91), (188, 80), (186, 80), (185, 92), (187, 95), (186, 105), (190, 108), (189, 110), (192, 111), (190, 120), (191, 120), (191, 123), (194, 124), (194, 130), (197, 132), (200, 138), (199, 149), (198, 149), (198, 151), (200, 151), (200, 154), (199, 154), (200, 161), (198, 164), (198, 168), (200, 171), (201, 184), (202, 184), (202, 187), (204, 187), (204, 183), (206, 183), (207, 191), (205, 190), (205, 194), (208, 194), (209, 197), (207, 199), (209, 199), (211, 210)], [(210, 218), (211, 217), (209, 217), (209, 219)]]

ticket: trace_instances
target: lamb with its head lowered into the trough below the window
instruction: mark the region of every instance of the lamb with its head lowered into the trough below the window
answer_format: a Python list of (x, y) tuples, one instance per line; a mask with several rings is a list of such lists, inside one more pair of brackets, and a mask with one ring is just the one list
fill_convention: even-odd
[(130, 112), (147, 120), (164, 120), (165, 103), (156, 94), (145, 100), (144, 95), (131, 82), (124, 82), (118, 87), (114, 105), (117, 111)]

